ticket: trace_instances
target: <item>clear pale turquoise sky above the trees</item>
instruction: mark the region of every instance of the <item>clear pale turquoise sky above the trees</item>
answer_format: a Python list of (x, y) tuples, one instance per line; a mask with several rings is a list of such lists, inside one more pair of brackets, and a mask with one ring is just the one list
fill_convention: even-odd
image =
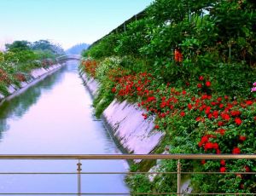
[(0, 0), (0, 49), (15, 40), (93, 43), (153, 1)]

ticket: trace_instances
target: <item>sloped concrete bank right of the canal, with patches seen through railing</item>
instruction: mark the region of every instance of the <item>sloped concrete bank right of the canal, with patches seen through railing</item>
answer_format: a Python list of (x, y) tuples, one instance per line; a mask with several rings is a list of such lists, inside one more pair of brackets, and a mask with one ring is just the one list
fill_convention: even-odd
[[(100, 84), (93, 78), (89, 78), (84, 72), (80, 72), (84, 84), (92, 97), (96, 96)], [(114, 140), (125, 149), (127, 153), (169, 153), (165, 146), (165, 134), (154, 130), (154, 119), (144, 120), (143, 111), (135, 104), (127, 101), (112, 103), (103, 112), (102, 118), (107, 125), (108, 131)], [(140, 171), (157, 172), (159, 163), (152, 160), (134, 160)], [(154, 177), (148, 177), (152, 182)], [(182, 177), (181, 193), (191, 193), (190, 180), (187, 176)]]

